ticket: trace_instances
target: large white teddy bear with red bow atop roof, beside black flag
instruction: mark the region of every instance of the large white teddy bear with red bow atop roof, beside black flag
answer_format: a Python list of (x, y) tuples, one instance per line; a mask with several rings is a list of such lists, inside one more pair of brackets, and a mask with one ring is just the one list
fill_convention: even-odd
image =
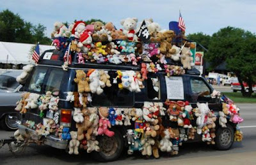
[(125, 18), (121, 20), (121, 25), (124, 27), (123, 32), (129, 41), (138, 41), (136, 36), (138, 18)]

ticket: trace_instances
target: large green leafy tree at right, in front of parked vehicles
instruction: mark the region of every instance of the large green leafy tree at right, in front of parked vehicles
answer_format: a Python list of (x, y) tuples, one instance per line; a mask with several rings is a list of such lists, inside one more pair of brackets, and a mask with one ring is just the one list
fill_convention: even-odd
[[(227, 69), (236, 73), (243, 96), (252, 96), (256, 81), (256, 36), (252, 32), (235, 27), (225, 27), (212, 35), (206, 59), (212, 67), (227, 62)], [(248, 84), (248, 91), (243, 82)]]

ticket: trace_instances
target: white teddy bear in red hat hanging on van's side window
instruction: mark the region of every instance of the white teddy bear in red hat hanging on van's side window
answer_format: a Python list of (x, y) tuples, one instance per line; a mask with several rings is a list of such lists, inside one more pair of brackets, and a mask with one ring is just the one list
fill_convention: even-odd
[(102, 87), (105, 86), (105, 83), (100, 81), (100, 73), (97, 69), (90, 69), (87, 72), (87, 76), (89, 77), (89, 85), (91, 92), (97, 93), (98, 95), (102, 94), (103, 89)]

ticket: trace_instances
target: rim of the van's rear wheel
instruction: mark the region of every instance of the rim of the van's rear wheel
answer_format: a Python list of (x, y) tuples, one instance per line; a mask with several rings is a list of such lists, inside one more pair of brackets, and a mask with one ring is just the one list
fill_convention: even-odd
[(112, 136), (111, 138), (108, 136), (102, 136), (99, 144), (102, 154), (107, 156), (115, 154), (118, 146), (115, 136)]

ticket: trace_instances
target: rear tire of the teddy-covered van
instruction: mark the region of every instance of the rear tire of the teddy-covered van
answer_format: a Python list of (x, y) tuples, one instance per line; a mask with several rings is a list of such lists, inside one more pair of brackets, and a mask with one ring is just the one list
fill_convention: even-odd
[[(99, 136), (99, 152), (93, 152), (93, 157), (99, 162), (111, 162), (120, 157), (124, 148), (124, 138), (119, 131), (114, 131), (115, 135), (111, 138), (108, 136)], [(107, 144), (111, 144), (110, 146)], [(110, 149), (111, 148), (111, 149)]]

